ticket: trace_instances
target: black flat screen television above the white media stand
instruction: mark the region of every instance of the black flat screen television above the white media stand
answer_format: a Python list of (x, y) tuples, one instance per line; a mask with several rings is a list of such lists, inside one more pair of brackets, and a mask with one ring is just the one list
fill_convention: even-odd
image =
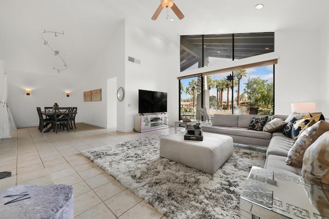
[(138, 113), (167, 112), (167, 93), (138, 90)]

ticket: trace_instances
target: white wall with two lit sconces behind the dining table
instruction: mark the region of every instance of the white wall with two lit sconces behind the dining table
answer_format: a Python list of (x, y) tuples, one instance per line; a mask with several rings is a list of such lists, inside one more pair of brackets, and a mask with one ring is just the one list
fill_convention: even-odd
[[(19, 66), (19, 64), (17, 64)], [(8, 73), (8, 106), (18, 128), (39, 125), (36, 107), (52, 107), (58, 103), (60, 107), (78, 107), (76, 122), (81, 122), (79, 115), (83, 95), (79, 92), (80, 84), (69, 72), (44, 73), (22, 72), (6, 68)], [(25, 90), (30, 89), (27, 96)], [(66, 97), (66, 91), (71, 92)]]

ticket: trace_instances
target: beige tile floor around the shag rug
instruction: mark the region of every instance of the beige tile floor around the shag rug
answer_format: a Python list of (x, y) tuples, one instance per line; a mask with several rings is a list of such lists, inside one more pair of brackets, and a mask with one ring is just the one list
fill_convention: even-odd
[(173, 134), (174, 128), (123, 133), (79, 123), (76, 130), (58, 134), (40, 133), (37, 127), (12, 130), (11, 138), (0, 140), (0, 172), (12, 173), (0, 180), (0, 190), (22, 184), (67, 184), (74, 188), (75, 218), (167, 218), (80, 154), (82, 150), (156, 133)]

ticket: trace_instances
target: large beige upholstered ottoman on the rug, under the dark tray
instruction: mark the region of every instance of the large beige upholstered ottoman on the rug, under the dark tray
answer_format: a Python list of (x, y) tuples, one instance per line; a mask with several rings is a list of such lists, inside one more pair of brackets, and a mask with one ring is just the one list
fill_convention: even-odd
[(160, 156), (213, 174), (233, 154), (233, 138), (204, 132), (204, 141), (184, 140), (178, 133), (160, 139)]

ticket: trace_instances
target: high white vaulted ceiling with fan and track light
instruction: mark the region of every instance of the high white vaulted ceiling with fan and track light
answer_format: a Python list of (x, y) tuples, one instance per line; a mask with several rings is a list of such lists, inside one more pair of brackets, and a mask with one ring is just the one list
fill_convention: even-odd
[[(275, 32), (320, 29), (328, 21), (327, 0), (175, 0), (184, 13), (180, 20), (172, 10), (151, 17), (160, 0), (10, 0), (0, 2), (0, 59), (14, 70), (57, 73), (51, 68), (53, 54), (43, 45), (41, 34), (65, 59), (66, 72), (88, 68), (116, 33), (123, 19), (172, 41), (179, 35)], [(261, 10), (256, 4), (263, 4)]]

